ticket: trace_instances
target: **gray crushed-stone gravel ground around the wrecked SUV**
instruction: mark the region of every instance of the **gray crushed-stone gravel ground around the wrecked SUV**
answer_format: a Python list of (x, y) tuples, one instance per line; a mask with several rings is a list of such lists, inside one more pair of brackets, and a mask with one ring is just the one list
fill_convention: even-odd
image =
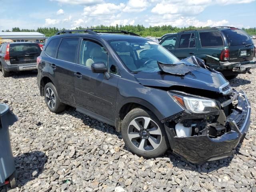
[(39, 96), (36, 72), (8, 78), (1, 73), (0, 102), (7, 102), (19, 120), (10, 127), (18, 188), (4, 186), (0, 192), (256, 192), (256, 70), (231, 85), (251, 102), (250, 130), (233, 156), (194, 165), (170, 151), (140, 158), (126, 150), (112, 126), (74, 108), (51, 113)]

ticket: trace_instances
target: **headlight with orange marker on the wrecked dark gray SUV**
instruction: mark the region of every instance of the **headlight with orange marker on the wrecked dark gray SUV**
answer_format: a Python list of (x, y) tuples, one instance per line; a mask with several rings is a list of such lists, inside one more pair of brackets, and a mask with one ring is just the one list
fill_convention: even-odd
[(190, 97), (188, 95), (179, 95), (169, 92), (171, 96), (183, 108), (194, 114), (208, 114), (211, 112), (219, 112), (218, 105), (214, 100), (208, 98)]

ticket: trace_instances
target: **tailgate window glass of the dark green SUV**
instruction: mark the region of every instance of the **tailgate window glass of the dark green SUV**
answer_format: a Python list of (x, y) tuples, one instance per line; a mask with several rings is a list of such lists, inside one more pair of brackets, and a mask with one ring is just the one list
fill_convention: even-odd
[(243, 30), (223, 30), (230, 46), (253, 44), (250, 36)]

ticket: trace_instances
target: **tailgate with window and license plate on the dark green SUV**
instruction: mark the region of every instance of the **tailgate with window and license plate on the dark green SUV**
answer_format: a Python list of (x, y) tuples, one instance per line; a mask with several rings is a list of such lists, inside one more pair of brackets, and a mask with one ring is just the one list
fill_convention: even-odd
[(254, 56), (254, 45), (250, 36), (240, 29), (222, 30), (226, 37), (229, 50), (230, 62), (250, 61)]

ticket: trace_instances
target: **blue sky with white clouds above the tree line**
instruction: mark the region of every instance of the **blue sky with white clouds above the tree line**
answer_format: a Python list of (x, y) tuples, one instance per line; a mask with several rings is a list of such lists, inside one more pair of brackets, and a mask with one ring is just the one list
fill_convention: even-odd
[(0, 0), (0, 30), (137, 25), (256, 27), (256, 0)]

